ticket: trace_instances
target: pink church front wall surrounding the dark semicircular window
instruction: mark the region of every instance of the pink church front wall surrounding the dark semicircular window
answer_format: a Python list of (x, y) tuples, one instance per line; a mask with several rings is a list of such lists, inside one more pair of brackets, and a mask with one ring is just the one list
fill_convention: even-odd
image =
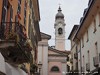
[[(53, 53), (53, 52), (50, 52), (50, 53)], [(56, 75), (56, 74), (57, 75), (65, 75), (64, 73), (67, 72), (66, 57), (49, 56), (48, 63), (49, 63), (48, 64), (48, 75)], [(60, 71), (59, 72), (52, 72), (51, 68), (54, 66), (57, 66)]]

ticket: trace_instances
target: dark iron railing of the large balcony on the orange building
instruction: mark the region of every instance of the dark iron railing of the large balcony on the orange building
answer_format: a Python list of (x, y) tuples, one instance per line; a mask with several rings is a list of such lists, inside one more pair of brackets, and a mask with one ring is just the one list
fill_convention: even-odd
[(19, 22), (1, 22), (0, 25), (0, 39), (1, 40), (15, 40), (19, 38), (20, 42), (26, 40), (24, 34), (24, 26)]

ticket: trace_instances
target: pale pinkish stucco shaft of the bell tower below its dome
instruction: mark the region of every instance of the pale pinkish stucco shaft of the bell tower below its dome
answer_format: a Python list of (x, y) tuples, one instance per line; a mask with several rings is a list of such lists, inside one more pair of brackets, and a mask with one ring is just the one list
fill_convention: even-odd
[[(60, 22), (60, 23), (59, 23)], [(55, 21), (55, 48), (57, 50), (65, 50), (65, 23), (64, 19), (57, 19)], [(63, 34), (58, 34), (58, 29), (63, 29)]]

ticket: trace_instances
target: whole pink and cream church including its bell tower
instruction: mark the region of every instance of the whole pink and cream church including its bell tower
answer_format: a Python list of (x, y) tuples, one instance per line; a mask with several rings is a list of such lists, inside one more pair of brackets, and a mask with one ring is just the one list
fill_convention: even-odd
[(40, 75), (66, 75), (67, 56), (65, 50), (65, 22), (62, 10), (59, 7), (55, 16), (55, 47), (48, 45), (51, 36), (41, 33), (42, 40), (38, 44), (38, 69)]

